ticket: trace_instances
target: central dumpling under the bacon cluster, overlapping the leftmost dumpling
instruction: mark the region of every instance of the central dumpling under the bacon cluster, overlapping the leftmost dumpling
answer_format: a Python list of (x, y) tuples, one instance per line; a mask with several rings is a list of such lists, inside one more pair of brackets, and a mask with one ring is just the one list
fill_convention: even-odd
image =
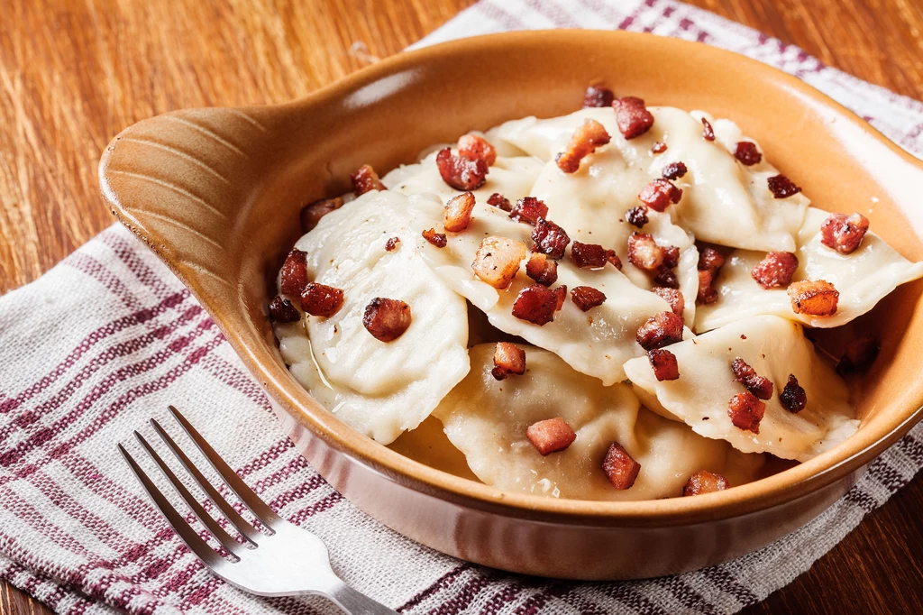
[(569, 257), (558, 261), (557, 284), (569, 289), (586, 285), (602, 291), (605, 303), (588, 312), (581, 311), (567, 299), (554, 321), (539, 326), (512, 315), (513, 302), (522, 288), (533, 282), (521, 271), (509, 287), (497, 290), (475, 277), (472, 262), (481, 241), (489, 235), (521, 241), (531, 247), (533, 226), (517, 223), (506, 211), (478, 202), (467, 230), (448, 234), (446, 247), (429, 245), (421, 236), (430, 228), (441, 228), (443, 204), (435, 198), (420, 197), (411, 205), (414, 218), (411, 227), (420, 253), (429, 267), (444, 283), (471, 301), (475, 308), (487, 314), (490, 323), (500, 331), (519, 335), (556, 353), (569, 365), (584, 373), (612, 384), (624, 380), (622, 364), (641, 354), (634, 340), (638, 328), (654, 314), (668, 311), (661, 297), (638, 288), (612, 265), (599, 270), (578, 269)]

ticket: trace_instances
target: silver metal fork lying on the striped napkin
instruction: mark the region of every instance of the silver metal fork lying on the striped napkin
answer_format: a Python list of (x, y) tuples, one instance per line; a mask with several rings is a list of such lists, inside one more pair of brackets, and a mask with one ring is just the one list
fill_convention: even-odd
[(218, 489), (214, 488), (209, 480), (202, 475), (195, 464), (185, 452), (176, 444), (173, 438), (161, 427), (155, 419), (150, 419), (150, 424), (161, 439), (170, 447), (186, 471), (195, 479), (198, 486), (208, 494), (212, 503), (221, 509), (227, 520), (237, 528), (245, 542), (234, 540), (221, 525), (205, 512), (202, 505), (189, 493), (189, 490), (176, 477), (170, 467), (165, 464), (159, 454), (150, 446), (138, 431), (135, 437), (141, 446), (150, 454), (150, 457), (160, 468), (163, 476), (172, 484), (176, 492), (186, 500), (186, 504), (198, 517), (199, 522), (205, 525), (212, 537), (222, 544), (224, 549), (232, 555), (233, 560), (223, 557), (211, 549), (209, 545), (198, 536), (183, 515), (178, 513), (162, 492), (150, 480), (135, 459), (120, 443), (119, 452), (131, 466), (141, 486), (148, 492), (151, 500), (160, 509), (167, 523), (173, 526), (176, 534), (186, 543), (186, 546), (203, 561), (211, 571), (222, 577), (232, 585), (256, 594), (258, 596), (295, 596), (300, 594), (318, 594), (330, 598), (337, 606), (352, 615), (394, 615), (395, 611), (379, 604), (375, 600), (357, 592), (349, 585), (343, 583), (330, 568), (330, 558), (327, 547), (320, 538), (307, 530), (283, 520), (273, 513), (269, 506), (253, 489), (246, 486), (240, 476), (234, 474), (231, 466), (211, 448), (210, 444), (202, 438), (198, 431), (192, 427), (186, 417), (169, 406), (170, 412), (186, 430), (189, 437), (196, 443), (198, 450), (215, 469), (224, 483), (244, 502), (246, 507), (267, 533), (258, 531), (253, 525), (238, 514), (234, 507), (225, 500)]

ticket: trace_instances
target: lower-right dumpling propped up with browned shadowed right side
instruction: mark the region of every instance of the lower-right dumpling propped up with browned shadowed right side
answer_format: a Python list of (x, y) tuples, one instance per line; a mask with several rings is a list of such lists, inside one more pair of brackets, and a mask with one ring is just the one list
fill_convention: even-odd
[[(775, 316), (735, 320), (666, 350), (677, 357), (678, 380), (656, 380), (647, 357), (630, 360), (625, 371), (641, 399), (655, 397), (666, 413), (702, 436), (727, 440), (742, 452), (807, 461), (856, 432), (845, 382), (814, 353), (795, 322)], [(731, 370), (738, 356), (773, 381), (759, 433), (735, 427), (728, 415), (731, 397), (746, 391)], [(797, 414), (779, 401), (790, 374), (807, 394)]]

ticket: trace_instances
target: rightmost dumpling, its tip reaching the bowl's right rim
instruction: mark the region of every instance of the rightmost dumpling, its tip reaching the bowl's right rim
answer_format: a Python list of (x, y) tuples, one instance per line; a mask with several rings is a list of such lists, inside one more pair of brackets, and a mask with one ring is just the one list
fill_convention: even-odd
[(714, 282), (718, 300), (698, 308), (696, 331), (710, 331), (733, 320), (759, 314), (774, 314), (811, 327), (839, 327), (874, 308), (898, 285), (923, 276), (923, 262), (910, 262), (871, 231), (848, 256), (824, 246), (821, 224), (828, 215), (826, 211), (809, 208), (798, 234), (795, 252), (798, 268), (792, 279), (832, 283), (840, 293), (833, 316), (796, 314), (785, 288), (764, 289), (750, 275), (765, 253), (736, 250)]

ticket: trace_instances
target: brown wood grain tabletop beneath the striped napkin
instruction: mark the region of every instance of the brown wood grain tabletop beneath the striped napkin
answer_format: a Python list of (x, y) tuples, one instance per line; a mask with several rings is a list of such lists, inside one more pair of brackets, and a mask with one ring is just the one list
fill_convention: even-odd
[[(0, 0), (0, 294), (112, 223), (96, 163), (123, 127), (281, 103), (395, 54), (471, 0)], [(920, 0), (693, 0), (923, 99)], [(747, 613), (923, 613), (923, 480)], [(47, 613), (0, 585), (0, 614)]]

